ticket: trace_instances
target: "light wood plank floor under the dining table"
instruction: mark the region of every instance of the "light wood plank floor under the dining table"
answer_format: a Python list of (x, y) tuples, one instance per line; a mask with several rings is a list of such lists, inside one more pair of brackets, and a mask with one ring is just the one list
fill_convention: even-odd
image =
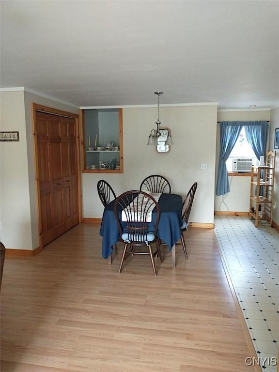
[(99, 227), (79, 225), (33, 258), (8, 258), (1, 372), (242, 372), (248, 346), (212, 230), (186, 233), (189, 258), (130, 256), (118, 275)]

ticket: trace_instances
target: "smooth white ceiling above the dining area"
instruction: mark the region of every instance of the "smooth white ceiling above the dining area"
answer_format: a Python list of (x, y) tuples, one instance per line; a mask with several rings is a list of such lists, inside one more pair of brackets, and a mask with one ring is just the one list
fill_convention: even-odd
[(279, 105), (279, 1), (1, 1), (1, 87), (78, 106)]

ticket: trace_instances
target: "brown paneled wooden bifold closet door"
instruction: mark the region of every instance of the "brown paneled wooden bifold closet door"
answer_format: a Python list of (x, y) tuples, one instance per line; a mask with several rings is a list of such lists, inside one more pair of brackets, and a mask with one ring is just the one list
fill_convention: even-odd
[(75, 120), (36, 112), (36, 134), (41, 233), (46, 245), (78, 223)]

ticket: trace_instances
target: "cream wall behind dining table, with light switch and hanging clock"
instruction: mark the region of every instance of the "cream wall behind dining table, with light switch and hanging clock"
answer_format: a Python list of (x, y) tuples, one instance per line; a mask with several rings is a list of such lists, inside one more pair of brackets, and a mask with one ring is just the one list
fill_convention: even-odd
[[(156, 108), (123, 109), (124, 174), (83, 174), (84, 217), (102, 217), (96, 190), (99, 179), (108, 181), (119, 195), (139, 189), (146, 176), (161, 174), (171, 182), (172, 193), (183, 196), (197, 181), (190, 220), (213, 223), (217, 105), (160, 109), (162, 127), (171, 128), (174, 141), (169, 154), (158, 154), (155, 146), (146, 145), (156, 114)], [(201, 163), (207, 163), (206, 171), (201, 171)]]

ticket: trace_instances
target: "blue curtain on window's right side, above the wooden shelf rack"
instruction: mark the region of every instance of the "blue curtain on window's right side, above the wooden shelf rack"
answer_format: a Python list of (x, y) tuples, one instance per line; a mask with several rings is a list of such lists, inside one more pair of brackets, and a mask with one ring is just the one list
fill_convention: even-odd
[(267, 122), (244, 122), (247, 140), (251, 145), (258, 160), (261, 155), (265, 155), (266, 141), (268, 135)]

